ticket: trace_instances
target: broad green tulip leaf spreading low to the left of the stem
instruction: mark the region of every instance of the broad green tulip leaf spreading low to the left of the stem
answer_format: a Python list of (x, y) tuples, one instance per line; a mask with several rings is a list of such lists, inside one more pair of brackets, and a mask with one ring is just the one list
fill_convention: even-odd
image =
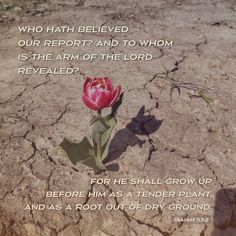
[(87, 137), (84, 137), (80, 143), (73, 143), (64, 139), (60, 147), (66, 152), (68, 158), (74, 165), (80, 162), (94, 170), (106, 169), (103, 163), (95, 159), (94, 149)]

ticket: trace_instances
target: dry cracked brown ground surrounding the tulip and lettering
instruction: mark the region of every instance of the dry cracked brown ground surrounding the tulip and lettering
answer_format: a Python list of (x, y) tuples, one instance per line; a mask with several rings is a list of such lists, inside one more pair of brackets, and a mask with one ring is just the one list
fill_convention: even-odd
[[(236, 4), (221, 0), (3, 1), (0, 18), (0, 235), (236, 235)], [(70, 39), (70, 34), (21, 35), (18, 25), (127, 25), (125, 34), (81, 38), (169, 39), (165, 47), (104, 47), (103, 53), (152, 52), (152, 61), (64, 61), (69, 76), (17, 75), (19, 39)], [(49, 49), (53, 52), (55, 49)], [(73, 48), (57, 48), (74, 53)], [(78, 53), (96, 48), (79, 48)], [(47, 51), (48, 52), (48, 51)], [(53, 66), (55, 62), (47, 62)], [(79, 65), (78, 65), (79, 64)], [(73, 166), (58, 147), (64, 137), (90, 137), (90, 112), (81, 100), (84, 76), (108, 76), (125, 92), (109, 157), (118, 171), (95, 175)], [(145, 106), (145, 107), (143, 107)], [(139, 114), (139, 115), (138, 115)], [(141, 118), (140, 118), (141, 114)], [(146, 117), (146, 118), (145, 118)], [(150, 119), (149, 119), (150, 118)], [(157, 124), (154, 129), (154, 122)], [(89, 128), (88, 128), (89, 127)], [(211, 178), (207, 186), (162, 186), (166, 191), (211, 191), (207, 212), (36, 211), (27, 204), (118, 206), (125, 198), (94, 198), (91, 191), (160, 190), (150, 185), (98, 185), (91, 178)], [(46, 198), (47, 191), (86, 191), (86, 198)], [(139, 203), (193, 203), (193, 198), (135, 198)], [(208, 223), (172, 223), (172, 216), (210, 216)]]

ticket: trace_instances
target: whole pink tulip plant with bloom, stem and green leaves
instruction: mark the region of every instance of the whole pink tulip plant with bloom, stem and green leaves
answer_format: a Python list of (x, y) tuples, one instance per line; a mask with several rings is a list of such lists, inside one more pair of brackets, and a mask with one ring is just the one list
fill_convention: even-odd
[[(90, 124), (93, 125), (93, 145), (87, 137), (80, 143), (64, 139), (60, 146), (73, 164), (78, 161), (94, 170), (106, 170), (102, 163), (108, 155), (111, 132), (117, 124), (116, 112), (122, 103), (121, 87), (115, 89), (108, 78), (87, 78), (84, 83), (82, 100), (91, 110), (97, 111)], [(102, 117), (102, 109), (111, 107), (111, 113)]]

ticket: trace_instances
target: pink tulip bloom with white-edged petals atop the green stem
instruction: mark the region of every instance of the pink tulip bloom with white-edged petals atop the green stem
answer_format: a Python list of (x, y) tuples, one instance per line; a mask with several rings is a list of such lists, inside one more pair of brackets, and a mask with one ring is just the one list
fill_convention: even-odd
[(120, 86), (113, 88), (108, 78), (87, 78), (84, 83), (84, 104), (92, 110), (111, 107), (120, 95)]

